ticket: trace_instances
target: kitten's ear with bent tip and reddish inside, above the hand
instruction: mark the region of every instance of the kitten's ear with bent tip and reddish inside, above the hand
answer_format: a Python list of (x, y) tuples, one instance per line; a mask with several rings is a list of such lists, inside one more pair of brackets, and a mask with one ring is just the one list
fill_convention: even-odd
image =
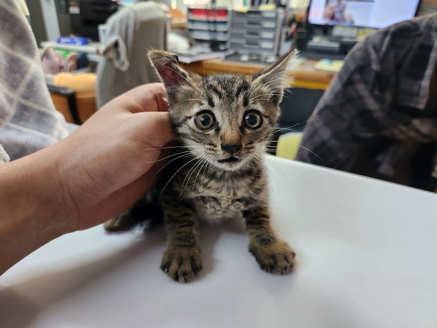
[(148, 56), (167, 91), (177, 88), (187, 80), (188, 72), (177, 64), (179, 62), (177, 55), (163, 50), (151, 50)]

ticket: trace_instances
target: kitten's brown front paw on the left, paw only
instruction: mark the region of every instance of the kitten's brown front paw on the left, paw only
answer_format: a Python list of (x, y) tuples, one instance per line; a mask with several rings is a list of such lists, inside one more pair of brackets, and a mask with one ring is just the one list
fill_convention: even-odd
[(168, 247), (164, 252), (161, 270), (171, 279), (186, 283), (203, 269), (199, 248)]

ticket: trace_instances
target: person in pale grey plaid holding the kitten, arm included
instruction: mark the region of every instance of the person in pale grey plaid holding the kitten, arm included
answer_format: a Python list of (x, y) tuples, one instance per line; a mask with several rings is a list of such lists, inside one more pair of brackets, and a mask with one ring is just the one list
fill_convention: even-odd
[(132, 206), (174, 137), (159, 83), (115, 98), (80, 127), (66, 123), (20, 4), (0, 1), (0, 275), (52, 239)]

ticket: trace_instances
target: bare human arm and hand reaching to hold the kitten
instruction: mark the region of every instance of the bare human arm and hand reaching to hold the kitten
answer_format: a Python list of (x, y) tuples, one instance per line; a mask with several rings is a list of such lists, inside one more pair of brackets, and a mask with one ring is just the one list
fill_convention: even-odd
[[(114, 99), (66, 139), (0, 165), (0, 275), (69, 232), (104, 223), (156, 182), (173, 138), (162, 84)], [(152, 181), (153, 179), (153, 181)]]

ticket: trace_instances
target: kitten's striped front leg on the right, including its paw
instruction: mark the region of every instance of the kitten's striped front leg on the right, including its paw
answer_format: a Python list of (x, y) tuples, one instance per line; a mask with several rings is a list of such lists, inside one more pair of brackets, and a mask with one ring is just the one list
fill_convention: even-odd
[(249, 251), (261, 269), (279, 274), (291, 272), (295, 252), (274, 234), (267, 207), (243, 211), (243, 216), (250, 236)]

